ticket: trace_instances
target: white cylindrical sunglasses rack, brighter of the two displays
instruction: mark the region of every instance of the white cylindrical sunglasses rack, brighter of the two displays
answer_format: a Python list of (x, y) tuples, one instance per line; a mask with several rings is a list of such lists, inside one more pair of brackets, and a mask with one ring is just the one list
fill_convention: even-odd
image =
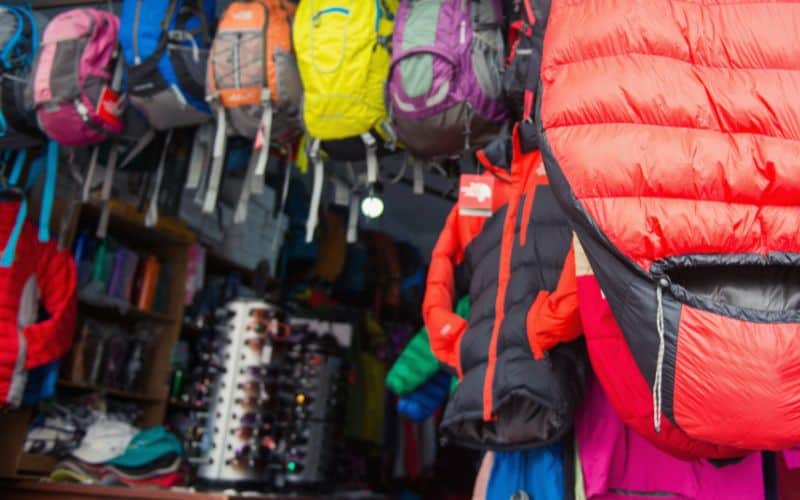
[[(264, 489), (269, 469), (261, 446), (266, 365), (280, 311), (257, 300), (235, 300), (215, 314), (223, 365), (210, 392), (204, 458), (197, 471), (206, 486)], [(207, 436), (208, 437), (208, 436)]]

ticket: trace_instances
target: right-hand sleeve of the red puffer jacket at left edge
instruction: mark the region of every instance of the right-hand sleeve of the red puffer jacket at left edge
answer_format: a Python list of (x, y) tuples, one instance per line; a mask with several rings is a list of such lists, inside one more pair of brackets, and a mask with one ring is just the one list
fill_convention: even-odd
[(40, 244), (36, 278), (49, 319), (23, 331), (28, 344), (25, 368), (35, 368), (62, 357), (72, 345), (78, 314), (75, 262), (53, 242)]

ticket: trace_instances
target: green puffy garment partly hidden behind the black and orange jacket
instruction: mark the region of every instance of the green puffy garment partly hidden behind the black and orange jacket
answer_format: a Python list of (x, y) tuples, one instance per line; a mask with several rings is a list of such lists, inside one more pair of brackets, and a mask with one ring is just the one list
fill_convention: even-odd
[[(456, 305), (456, 314), (466, 319), (469, 316), (469, 298), (464, 297)], [(420, 328), (419, 332), (400, 353), (386, 376), (386, 386), (398, 396), (415, 391), (439, 371), (439, 360), (431, 352), (428, 329)], [(454, 377), (452, 389), (458, 384)]]

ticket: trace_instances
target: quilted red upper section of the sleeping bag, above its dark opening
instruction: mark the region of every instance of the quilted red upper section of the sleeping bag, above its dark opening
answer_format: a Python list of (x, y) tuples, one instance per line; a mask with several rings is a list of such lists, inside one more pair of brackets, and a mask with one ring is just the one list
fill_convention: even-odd
[(553, 2), (548, 141), (578, 199), (642, 268), (798, 251), (800, 100), (787, 98), (800, 94), (798, 25), (797, 3)]

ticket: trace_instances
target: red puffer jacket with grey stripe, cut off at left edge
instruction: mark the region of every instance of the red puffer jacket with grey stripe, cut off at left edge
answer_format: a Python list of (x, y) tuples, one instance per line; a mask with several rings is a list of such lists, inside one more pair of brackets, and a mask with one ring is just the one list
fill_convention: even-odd
[[(0, 203), (0, 241), (7, 241), (18, 203)], [(0, 268), (0, 407), (16, 406), (27, 370), (63, 356), (77, 319), (76, 272), (72, 257), (55, 243), (40, 243), (36, 229), (23, 226), (14, 262)], [(39, 306), (48, 319), (37, 322)]]

